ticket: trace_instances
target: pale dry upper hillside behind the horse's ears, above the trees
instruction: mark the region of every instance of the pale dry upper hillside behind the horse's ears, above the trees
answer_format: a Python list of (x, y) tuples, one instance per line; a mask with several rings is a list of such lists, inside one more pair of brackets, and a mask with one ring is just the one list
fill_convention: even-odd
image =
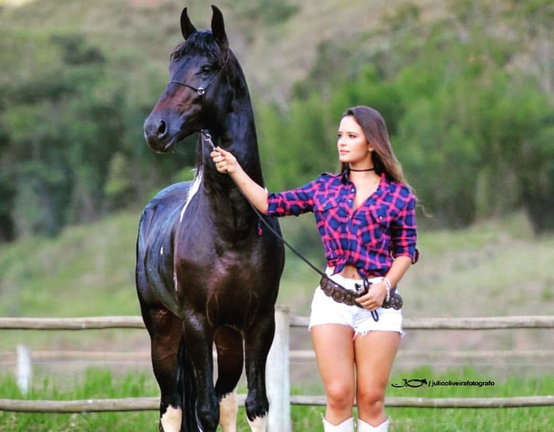
[[(150, 68), (166, 71), (168, 53), (181, 42), (181, 9), (188, 8), (197, 28), (209, 28), (212, 3), (32, 0), (23, 7), (5, 7), (0, 23), (3, 34), (13, 34), (13, 30), (37, 36), (82, 32), (114, 56), (140, 54)], [(214, 4), (224, 13), (230, 44), (254, 94), (281, 104), (286, 102), (291, 86), (310, 73), (320, 43), (330, 39), (348, 43), (356, 37), (352, 42), (358, 46), (371, 37), (373, 46), (386, 44), (386, 18), (405, 4), (420, 6), (423, 22), (433, 22), (445, 13), (443, 2), (436, 0), (356, 0), (347, 4), (340, 0), (222, 0)], [(135, 73), (143, 71), (137, 69), (141, 68), (129, 72), (140, 80), (144, 77)]]

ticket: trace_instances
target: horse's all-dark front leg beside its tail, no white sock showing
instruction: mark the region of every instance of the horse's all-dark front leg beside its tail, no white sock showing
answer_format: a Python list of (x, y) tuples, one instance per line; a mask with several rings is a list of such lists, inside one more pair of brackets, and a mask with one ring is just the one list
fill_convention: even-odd
[[(187, 346), (189, 371), (196, 388), (196, 403), (188, 413), (184, 413), (187, 423), (196, 425), (201, 432), (216, 432), (219, 424), (219, 399), (213, 385), (213, 336), (214, 332), (206, 316), (185, 312), (183, 335)], [(184, 402), (188, 405), (187, 402)], [(198, 424), (199, 423), (199, 424)], [(196, 432), (192, 429), (190, 432)]]

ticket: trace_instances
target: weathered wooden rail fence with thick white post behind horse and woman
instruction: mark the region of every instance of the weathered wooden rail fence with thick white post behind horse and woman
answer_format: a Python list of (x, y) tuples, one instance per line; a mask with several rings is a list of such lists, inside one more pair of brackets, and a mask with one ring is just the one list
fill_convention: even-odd
[[(266, 367), (270, 399), (268, 430), (290, 432), (290, 405), (325, 405), (324, 396), (290, 395), (290, 360), (311, 359), (311, 351), (290, 352), (290, 327), (305, 327), (307, 317), (290, 316), (286, 308), (275, 313), (276, 331)], [(491, 330), (498, 328), (554, 328), (554, 316), (509, 316), (479, 318), (404, 318), (406, 330)], [(89, 330), (99, 328), (144, 328), (138, 316), (84, 318), (0, 318), (0, 330)], [(0, 353), (2, 354), (2, 353)], [(513, 352), (485, 351), (474, 356), (510, 356)], [(552, 356), (551, 350), (535, 350), (532, 355)], [(5, 354), (4, 354), (5, 355)], [(52, 352), (49, 354), (53, 356)], [(74, 354), (76, 357), (78, 354)], [(83, 355), (80, 353), (79, 355)], [(117, 354), (116, 354), (117, 355)], [(402, 356), (403, 352), (399, 352)], [(463, 357), (463, 352), (450, 355)], [(24, 353), (19, 356), (25, 358)], [(28, 362), (31, 354), (27, 353)], [(69, 355), (71, 357), (71, 355)], [(1, 358), (1, 356), (0, 356)], [(105, 358), (105, 357), (104, 357)], [(25, 363), (25, 361), (24, 361)], [(27, 366), (25, 366), (28, 368)], [(239, 403), (245, 395), (239, 395)], [(408, 398), (388, 397), (387, 407), (420, 408), (509, 408), (554, 405), (554, 395), (512, 398)], [(158, 398), (89, 399), (89, 400), (14, 400), (0, 399), (0, 410), (13, 412), (83, 413), (109, 411), (157, 410)]]

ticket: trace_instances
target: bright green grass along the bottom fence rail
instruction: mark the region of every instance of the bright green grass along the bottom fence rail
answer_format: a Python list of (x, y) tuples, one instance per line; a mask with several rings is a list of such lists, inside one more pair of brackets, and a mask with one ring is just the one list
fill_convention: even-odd
[[(472, 368), (462, 371), (434, 373), (430, 366), (409, 372), (394, 373), (391, 383), (402, 378), (441, 380), (489, 380)], [(239, 393), (244, 389), (239, 389)], [(304, 393), (300, 388), (293, 393)], [(60, 390), (52, 380), (44, 379), (34, 386), (29, 399), (71, 400), (86, 398), (123, 398), (157, 396), (158, 390), (150, 374), (127, 374), (116, 377), (101, 369), (89, 369), (83, 379), (76, 380), (71, 389)], [(494, 387), (434, 387), (392, 388), (387, 396), (452, 398), (452, 397), (516, 397), (554, 394), (554, 377), (507, 377), (495, 380)], [(0, 398), (24, 398), (12, 376), (0, 376)], [(291, 407), (293, 431), (321, 430), (323, 407)], [(551, 407), (487, 408), (487, 409), (432, 409), (387, 408), (392, 420), (392, 432), (442, 432), (520, 430), (525, 432), (552, 430)], [(24, 414), (0, 412), (0, 432), (48, 431), (135, 431), (156, 430), (157, 413), (90, 413), (90, 414)], [(244, 409), (239, 410), (238, 430), (249, 431)]]

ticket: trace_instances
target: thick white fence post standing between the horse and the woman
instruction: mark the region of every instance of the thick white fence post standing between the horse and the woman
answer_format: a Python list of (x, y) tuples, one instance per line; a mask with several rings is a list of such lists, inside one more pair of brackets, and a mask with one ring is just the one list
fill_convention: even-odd
[(290, 419), (290, 315), (275, 307), (275, 337), (269, 350), (265, 382), (269, 398), (268, 432), (291, 432)]

